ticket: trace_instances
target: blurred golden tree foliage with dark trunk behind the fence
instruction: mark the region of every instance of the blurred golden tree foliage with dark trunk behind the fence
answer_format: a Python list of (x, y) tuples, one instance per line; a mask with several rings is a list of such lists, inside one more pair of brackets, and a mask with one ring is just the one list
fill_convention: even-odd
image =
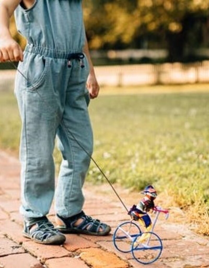
[(90, 47), (126, 46), (147, 34), (166, 40), (169, 60), (181, 60), (191, 31), (208, 17), (209, 0), (89, 0)]

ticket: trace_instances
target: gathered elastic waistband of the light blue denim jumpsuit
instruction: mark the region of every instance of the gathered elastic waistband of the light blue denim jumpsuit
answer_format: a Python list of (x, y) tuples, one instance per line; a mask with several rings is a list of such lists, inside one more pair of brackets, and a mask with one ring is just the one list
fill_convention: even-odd
[(59, 51), (54, 49), (48, 49), (46, 47), (34, 46), (32, 44), (27, 44), (25, 51), (34, 54), (40, 54), (49, 58), (58, 59), (69, 59), (72, 54), (82, 53), (82, 50), (69, 50), (69, 51)]

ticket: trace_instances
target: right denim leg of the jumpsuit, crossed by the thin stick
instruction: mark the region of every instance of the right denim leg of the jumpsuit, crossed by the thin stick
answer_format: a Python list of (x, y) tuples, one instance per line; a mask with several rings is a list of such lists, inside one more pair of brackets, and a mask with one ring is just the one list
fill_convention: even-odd
[(80, 69), (79, 66), (79, 69), (72, 71), (63, 119), (57, 132), (63, 161), (56, 188), (55, 210), (58, 215), (65, 218), (82, 210), (82, 186), (90, 163), (90, 157), (75, 139), (90, 155), (93, 150), (92, 127), (85, 90), (88, 71)]

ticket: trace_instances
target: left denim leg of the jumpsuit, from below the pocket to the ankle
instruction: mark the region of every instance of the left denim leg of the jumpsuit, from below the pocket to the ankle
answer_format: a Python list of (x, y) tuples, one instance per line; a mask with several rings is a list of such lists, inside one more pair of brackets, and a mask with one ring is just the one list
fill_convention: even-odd
[(29, 89), (18, 74), (15, 88), (22, 120), (20, 212), (25, 218), (42, 217), (48, 213), (54, 196), (52, 154), (58, 104), (47, 77)]

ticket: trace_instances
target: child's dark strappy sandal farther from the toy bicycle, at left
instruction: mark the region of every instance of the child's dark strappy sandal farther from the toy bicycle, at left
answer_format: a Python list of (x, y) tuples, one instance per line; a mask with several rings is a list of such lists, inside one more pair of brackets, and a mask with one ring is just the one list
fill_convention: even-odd
[(66, 240), (47, 217), (30, 218), (24, 222), (23, 235), (40, 244), (62, 245)]

